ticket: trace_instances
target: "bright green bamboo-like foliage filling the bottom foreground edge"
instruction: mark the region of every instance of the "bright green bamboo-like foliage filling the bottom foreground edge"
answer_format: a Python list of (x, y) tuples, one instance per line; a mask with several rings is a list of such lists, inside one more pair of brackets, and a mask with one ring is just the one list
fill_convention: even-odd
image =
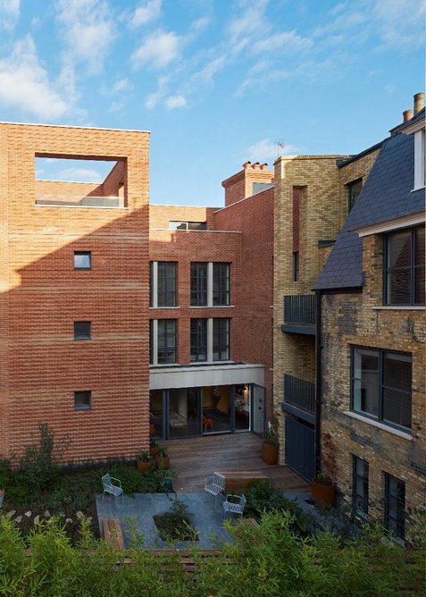
[[(180, 509), (180, 507), (177, 507)], [(26, 543), (10, 517), (0, 517), (0, 594), (6, 597), (341, 597), (425, 594), (423, 551), (382, 540), (382, 529), (339, 542), (330, 533), (301, 539), (288, 512), (269, 513), (257, 527), (229, 526), (234, 544), (205, 557), (193, 551), (186, 574), (181, 552), (115, 550), (82, 521), (78, 549), (59, 520), (44, 521)], [(135, 546), (138, 543), (135, 543)], [(129, 564), (124, 563), (128, 557)]]

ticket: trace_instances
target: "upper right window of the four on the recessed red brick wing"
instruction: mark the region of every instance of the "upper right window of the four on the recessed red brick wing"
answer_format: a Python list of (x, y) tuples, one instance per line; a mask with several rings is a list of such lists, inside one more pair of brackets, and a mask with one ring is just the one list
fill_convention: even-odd
[(230, 264), (191, 263), (191, 307), (230, 305)]

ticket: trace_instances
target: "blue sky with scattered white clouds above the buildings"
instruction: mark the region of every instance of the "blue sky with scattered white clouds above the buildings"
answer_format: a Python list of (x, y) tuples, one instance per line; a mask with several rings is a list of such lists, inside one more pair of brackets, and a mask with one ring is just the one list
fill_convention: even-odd
[[(424, 0), (0, 0), (0, 121), (151, 131), (153, 203), (355, 154), (424, 90)], [(44, 164), (46, 171), (49, 164)], [(91, 172), (92, 171), (92, 172)], [(68, 164), (60, 178), (96, 178)]]

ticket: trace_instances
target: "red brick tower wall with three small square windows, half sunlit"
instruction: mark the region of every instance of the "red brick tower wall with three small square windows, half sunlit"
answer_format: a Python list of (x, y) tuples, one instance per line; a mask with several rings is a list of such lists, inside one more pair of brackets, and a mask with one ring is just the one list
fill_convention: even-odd
[[(71, 437), (67, 458), (134, 455), (148, 445), (148, 134), (1, 124), (0, 147), (0, 453), (45, 421)], [(127, 158), (129, 209), (34, 206), (36, 154)], [(92, 270), (74, 271), (74, 250)], [(92, 340), (73, 340), (79, 320)], [(79, 390), (91, 410), (74, 409)]]

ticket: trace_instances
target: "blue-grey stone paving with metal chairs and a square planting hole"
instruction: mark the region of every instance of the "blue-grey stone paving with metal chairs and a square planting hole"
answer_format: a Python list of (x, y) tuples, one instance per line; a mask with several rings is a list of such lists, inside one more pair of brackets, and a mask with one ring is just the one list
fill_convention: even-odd
[[(115, 501), (114, 498), (102, 494), (96, 496), (96, 510), (99, 528), (102, 534), (102, 518), (118, 518), (124, 537), (124, 546), (130, 547), (129, 524), (126, 518), (134, 517), (134, 525), (138, 534), (142, 534), (145, 542), (142, 549), (161, 550), (170, 549), (171, 545), (158, 536), (153, 516), (171, 510), (171, 499), (174, 493), (135, 493), (133, 496), (124, 496)], [(221, 499), (218, 497), (217, 508), (214, 507), (214, 498), (205, 492), (179, 493), (179, 499), (188, 506), (191, 524), (199, 531), (198, 541), (176, 543), (174, 547), (184, 549), (191, 544), (199, 549), (214, 549), (217, 540), (232, 542), (231, 535), (223, 527), (221, 518)], [(213, 535), (215, 538), (213, 538)]]

